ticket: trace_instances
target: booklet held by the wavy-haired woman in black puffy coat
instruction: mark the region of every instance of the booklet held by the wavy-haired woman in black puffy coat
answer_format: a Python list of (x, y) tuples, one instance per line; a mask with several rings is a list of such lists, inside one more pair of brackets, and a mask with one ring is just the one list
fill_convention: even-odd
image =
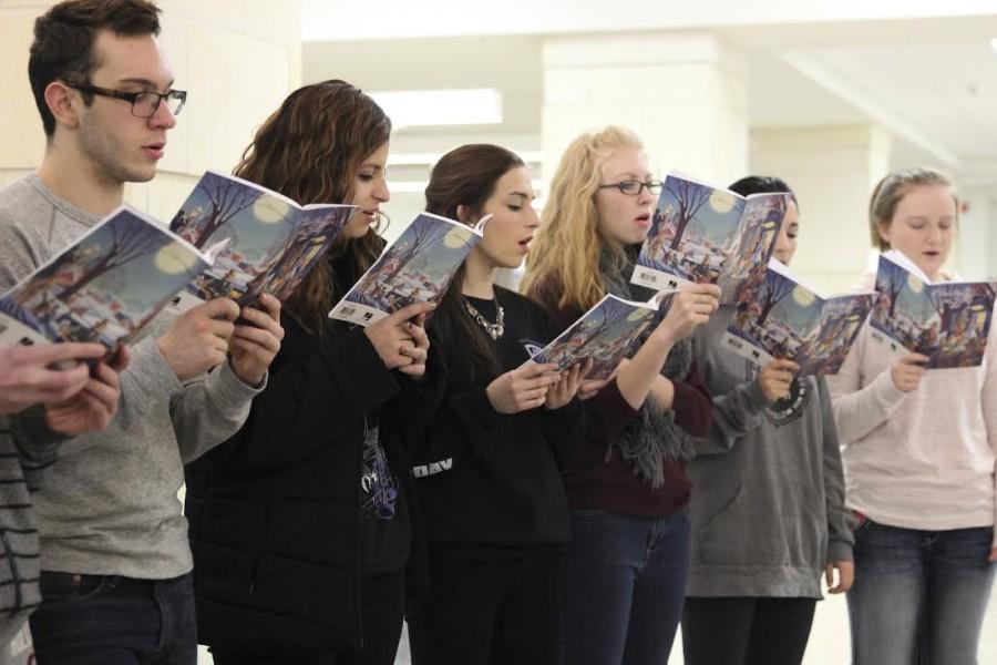
[(439, 303), (454, 273), (481, 239), (491, 215), (473, 228), (420, 213), (332, 308), (330, 318), (359, 326), (413, 303)]

